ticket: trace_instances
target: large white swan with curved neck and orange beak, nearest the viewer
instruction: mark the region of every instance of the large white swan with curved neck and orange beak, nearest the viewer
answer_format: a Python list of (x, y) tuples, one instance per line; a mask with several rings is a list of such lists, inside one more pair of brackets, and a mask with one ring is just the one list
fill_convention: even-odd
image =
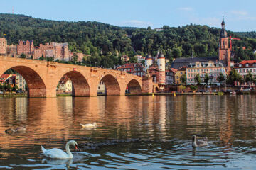
[(67, 151), (64, 152), (61, 149), (53, 148), (53, 149), (44, 149), (43, 146), (41, 146), (42, 152), (46, 157), (50, 157), (52, 159), (71, 159), (73, 158), (73, 154), (70, 152), (70, 145), (73, 145), (75, 149), (78, 149), (78, 143), (75, 142), (75, 140), (70, 140), (66, 146), (65, 149)]

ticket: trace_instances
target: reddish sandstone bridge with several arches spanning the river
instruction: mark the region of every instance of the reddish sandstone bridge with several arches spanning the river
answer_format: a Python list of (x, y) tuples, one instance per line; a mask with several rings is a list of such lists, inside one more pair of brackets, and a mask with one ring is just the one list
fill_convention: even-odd
[(73, 96), (97, 96), (101, 80), (106, 96), (124, 96), (127, 86), (131, 94), (151, 93), (156, 86), (151, 78), (112, 69), (1, 56), (0, 75), (8, 69), (14, 69), (26, 80), (29, 98), (55, 97), (58, 82), (64, 75), (72, 81)]

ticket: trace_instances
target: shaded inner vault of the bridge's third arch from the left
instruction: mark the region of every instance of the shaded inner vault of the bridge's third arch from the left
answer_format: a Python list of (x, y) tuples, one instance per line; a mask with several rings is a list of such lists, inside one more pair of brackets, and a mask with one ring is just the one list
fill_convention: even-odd
[(106, 88), (106, 96), (120, 96), (120, 86), (117, 79), (111, 74), (107, 74), (101, 79)]

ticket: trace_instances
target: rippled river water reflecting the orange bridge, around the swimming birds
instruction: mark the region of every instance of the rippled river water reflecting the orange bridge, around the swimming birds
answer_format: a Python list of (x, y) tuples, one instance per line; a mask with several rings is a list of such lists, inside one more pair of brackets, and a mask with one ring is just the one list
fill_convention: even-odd
[[(0, 115), (0, 169), (256, 169), (256, 96), (0, 98)], [(41, 154), (69, 140), (73, 159)]]

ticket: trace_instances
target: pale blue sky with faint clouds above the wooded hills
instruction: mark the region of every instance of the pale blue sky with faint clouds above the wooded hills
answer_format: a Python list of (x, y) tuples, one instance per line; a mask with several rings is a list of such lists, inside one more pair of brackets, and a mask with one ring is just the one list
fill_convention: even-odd
[(55, 21), (98, 21), (114, 26), (161, 28), (207, 25), (256, 30), (255, 0), (0, 0), (0, 13)]

